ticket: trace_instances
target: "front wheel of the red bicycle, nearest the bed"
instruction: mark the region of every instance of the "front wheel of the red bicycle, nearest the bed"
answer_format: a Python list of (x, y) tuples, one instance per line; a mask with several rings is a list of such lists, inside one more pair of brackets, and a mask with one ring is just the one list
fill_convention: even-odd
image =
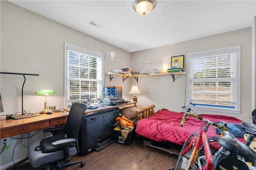
[(186, 168), (188, 164), (188, 159), (191, 156), (194, 145), (191, 146), (184, 154), (181, 154), (181, 152), (183, 152), (188, 147), (188, 145), (193, 141), (193, 139), (197, 136), (198, 135), (196, 132), (193, 132), (188, 136), (188, 139), (186, 140), (186, 142), (184, 143), (180, 151), (180, 155), (179, 155), (175, 170), (184, 170)]

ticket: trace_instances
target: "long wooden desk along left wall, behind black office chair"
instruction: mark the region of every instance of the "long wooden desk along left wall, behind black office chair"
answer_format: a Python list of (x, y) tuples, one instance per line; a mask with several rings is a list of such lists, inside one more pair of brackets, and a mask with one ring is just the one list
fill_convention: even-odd
[[(98, 109), (86, 109), (85, 114), (101, 111), (104, 109), (111, 109), (120, 106), (126, 106), (130, 104), (136, 104), (136, 102), (130, 102), (128, 104), (122, 104), (118, 106), (106, 106), (100, 107)], [(40, 116), (28, 117), (24, 119), (9, 119), (6, 118), (0, 119), (0, 138), (10, 137), (14, 135), (19, 135), (22, 133), (35, 131), (38, 129), (43, 129), (50, 126), (59, 125), (66, 123), (68, 117), (68, 111), (65, 112), (56, 112), (50, 115), (45, 113), (40, 114)]]

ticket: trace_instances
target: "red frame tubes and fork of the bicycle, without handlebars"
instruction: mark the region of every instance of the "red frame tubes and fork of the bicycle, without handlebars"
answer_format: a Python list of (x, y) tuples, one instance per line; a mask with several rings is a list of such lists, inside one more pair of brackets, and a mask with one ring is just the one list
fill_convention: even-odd
[[(207, 126), (209, 126), (209, 125), (207, 125)], [(188, 159), (188, 164), (186, 166), (186, 170), (189, 170), (190, 166), (194, 166), (194, 163), (196, 162), (196, 158), (198, 156), (198, 152), (200, 150), (200, 146), (201, 146), (202, 142), (204, 145), (204, 153), (206, 156), (207, 163), (204, 164), (204, 166), (202, 167), (201, 170), (213, 170), (213, 168), (214, 168), (212, 165), (212, 156), (213, 155), (211, 153), (210, 145), (208, 143), (208, 139), (206, 136), (206, 130), (204, 128), (202, 129), (202, 131), (198, 135), (198, 137), (196, 137), (196, 139), (191, 141), (191, 143), (188, 145), (188, 147), (186, 149), (184, 149), (183, 152), (181, 152), (181, 154), (184, 154), (190, 147), (193, 147), (192, 154), (191, 154), (190, 158)]]

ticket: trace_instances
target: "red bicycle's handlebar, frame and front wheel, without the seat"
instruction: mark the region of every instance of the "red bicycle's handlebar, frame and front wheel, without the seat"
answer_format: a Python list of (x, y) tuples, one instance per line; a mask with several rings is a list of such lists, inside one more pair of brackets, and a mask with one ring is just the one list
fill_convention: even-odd
[[(213, 155), (206, 133), (210, 125), (214, 125), (215, 127), (222, 129), (221, 135), (223, 131), (227, 131), (228, 129), (226, 128), (226, 125), (222, 126), (218, 123), (209, 121), (208, 119), (204, 119), (199, 115), (190, 113), (189, 111), (190, 109), (188, 108), (186, 113), (184, 113), (182, 121), (180, 123), (181, 127), (184, 126), (184, 122), (188, 115), (195, 117), (196, 119), (200, 119), (206, 124), (202, 125), (202, 129), (200, 130), (199, 135), (197, 135), (195, 132), (191, 133), (187, 141), (184, 143), (176, 164), (176, 170), (184, 169), (185, 166), (185, 170), (213, 170)], [(204, 150), (202, 150), (202, 147), (204, 147)], [(204, 153), (202, 154), (202, 156), (198, 157), (199, 153), (201, 154), (201, 151)]]

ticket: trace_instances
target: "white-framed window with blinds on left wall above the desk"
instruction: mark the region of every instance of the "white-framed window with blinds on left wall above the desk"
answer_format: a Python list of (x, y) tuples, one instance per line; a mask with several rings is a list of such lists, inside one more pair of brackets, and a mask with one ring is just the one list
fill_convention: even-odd
[(65, 43), (65, 107), (102, 96), (102, 63), (102, 53)]

